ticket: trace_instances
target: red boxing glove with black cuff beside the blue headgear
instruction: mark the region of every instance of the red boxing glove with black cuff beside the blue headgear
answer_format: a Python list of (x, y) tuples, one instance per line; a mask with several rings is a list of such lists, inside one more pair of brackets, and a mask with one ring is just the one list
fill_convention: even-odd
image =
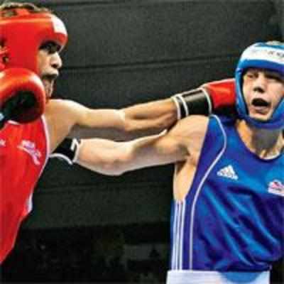
[(227, 113), (236, 102), (235, 81), (226, 79), (202, 84), (197, 89), (175, 94), (172, 97), (177, 107), (178, 119), (190, 114), (209, 115), (213, 112)]

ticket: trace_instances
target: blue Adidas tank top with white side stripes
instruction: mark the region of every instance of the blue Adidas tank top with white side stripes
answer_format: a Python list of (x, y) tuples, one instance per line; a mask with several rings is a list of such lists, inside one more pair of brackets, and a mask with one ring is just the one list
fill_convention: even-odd
[(284, 154), (249, 151), (212, 116), (192, 186), (171, 212), (172, 270), (267, 271), (283, 256)]

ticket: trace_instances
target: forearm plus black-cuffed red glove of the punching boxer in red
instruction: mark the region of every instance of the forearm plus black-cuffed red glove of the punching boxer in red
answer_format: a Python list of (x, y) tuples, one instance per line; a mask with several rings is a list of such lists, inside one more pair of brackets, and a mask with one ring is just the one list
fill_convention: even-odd
[(147, 134), (169, 129), (177, 120), (192, 114), (208, 116), (213, 112), (227, 114), (235, 104), (233, 79), (209, 82), (197, 89), (174, 94), (146, 104), (138, 104), (124, 110), (127, 132), (145, 131)]

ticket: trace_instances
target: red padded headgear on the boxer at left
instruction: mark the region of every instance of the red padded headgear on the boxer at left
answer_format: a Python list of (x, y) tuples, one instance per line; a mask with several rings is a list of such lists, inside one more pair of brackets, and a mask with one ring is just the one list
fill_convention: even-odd
[(62, 50), (67, 43), (64, 23), (52, 13), (35, 13), (23, 8), (0, 13), (0, 45), (5, 49), (5, 55), (0, 58), (3, 58), (1, 63), (5, 68), (23, 67), (39, 75), (37, 55), (40, 45), (53, 41)]

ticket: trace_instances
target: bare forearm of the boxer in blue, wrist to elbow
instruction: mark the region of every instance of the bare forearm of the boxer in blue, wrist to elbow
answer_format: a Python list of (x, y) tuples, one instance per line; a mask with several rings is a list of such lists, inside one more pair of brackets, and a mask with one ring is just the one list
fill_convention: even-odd
[(76, 163), (104, 175), (121, 175), (130, 170), (163, 164), (165, 158), (153, 146), (161, 136), (163, 133), (126, 142), (83, 139)]

